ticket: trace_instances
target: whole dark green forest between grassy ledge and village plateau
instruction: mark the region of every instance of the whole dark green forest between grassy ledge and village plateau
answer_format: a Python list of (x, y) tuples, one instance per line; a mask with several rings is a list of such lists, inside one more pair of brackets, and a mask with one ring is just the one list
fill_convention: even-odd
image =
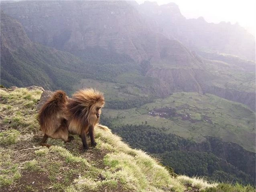
[[(145, 150), (160, 158), (163, 165), (173, 168), (177, 174), (205, 176), (214, 181), (255, 185), (255, 170), (249, 171), (250, 167), (254, 166), (253, 162), (248, 164), (240, 161), (248, 157), (244, 156), (246, 152), (241, 152), (243, 148), (236, 148), (236, 144), (232, 146), (215, 138), (208, 138), (206, 142), (198, 144), (190, 139), (166, 134), (163, 132), (165, 128), (161, 130), (147, 124), (112, 126), (106, 117), (102, 118), (102, 123), (111, 126), (113, 132), (120, 135), (133, 148)], [(220, 152), (209, 150), (214, 146), (226, 148), (225, 153), (229, 154), (228, 156), (234, 155), (237, 158), (233, 160), (229, 160), (228, 156), (222, 158), (223, 150)], [(242, 165), (238, 166), (238, 164)]]

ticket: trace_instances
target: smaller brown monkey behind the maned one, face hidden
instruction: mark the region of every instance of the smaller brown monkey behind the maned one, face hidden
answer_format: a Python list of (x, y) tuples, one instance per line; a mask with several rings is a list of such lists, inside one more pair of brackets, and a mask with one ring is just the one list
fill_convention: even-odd
[(46, 144), (48, 137), (61, 138), (65, 142), (73, 139), (73, 137), (69, 137), (67, 129), (66, 105), (66, 93), (62, 90), (57, 90), (42, 106), (38, 116), (41, 131), (45, 134), (41, 145), (51, 146)]

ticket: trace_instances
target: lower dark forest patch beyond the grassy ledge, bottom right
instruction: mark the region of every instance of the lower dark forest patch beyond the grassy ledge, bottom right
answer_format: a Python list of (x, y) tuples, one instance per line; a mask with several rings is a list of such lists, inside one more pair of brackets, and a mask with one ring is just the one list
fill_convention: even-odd
[(163, 164), (172, 166), (178, 174), (205, 176), (209, 180), (218, 182), (255, 184), (252, 176), (209, 152), (174, 150), (160, 156)]

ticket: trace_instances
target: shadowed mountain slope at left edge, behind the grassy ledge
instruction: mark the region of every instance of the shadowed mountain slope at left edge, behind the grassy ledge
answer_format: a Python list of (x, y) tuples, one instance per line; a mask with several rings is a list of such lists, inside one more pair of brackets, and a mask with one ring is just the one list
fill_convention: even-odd
[(79, 58), (67, 52), (32, 42), (22, 24), (1, 11), (1, 84), (4, 86), (35, 84), (70, 91), (82, 71), (81, 64)]

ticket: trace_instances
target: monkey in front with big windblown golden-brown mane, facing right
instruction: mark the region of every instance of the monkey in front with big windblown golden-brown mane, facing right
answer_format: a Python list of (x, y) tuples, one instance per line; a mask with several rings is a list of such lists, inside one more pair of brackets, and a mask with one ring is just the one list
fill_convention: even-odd
[(91, 146), (96, 146), (94, 127), (99, 123), (101, 108), (105, 100), (101, 92), (94, 89), (79, 90), (67, 104), (68, 130), (81, 136), (83, 150), (89, 149), (86, 135), (89, 133)]

